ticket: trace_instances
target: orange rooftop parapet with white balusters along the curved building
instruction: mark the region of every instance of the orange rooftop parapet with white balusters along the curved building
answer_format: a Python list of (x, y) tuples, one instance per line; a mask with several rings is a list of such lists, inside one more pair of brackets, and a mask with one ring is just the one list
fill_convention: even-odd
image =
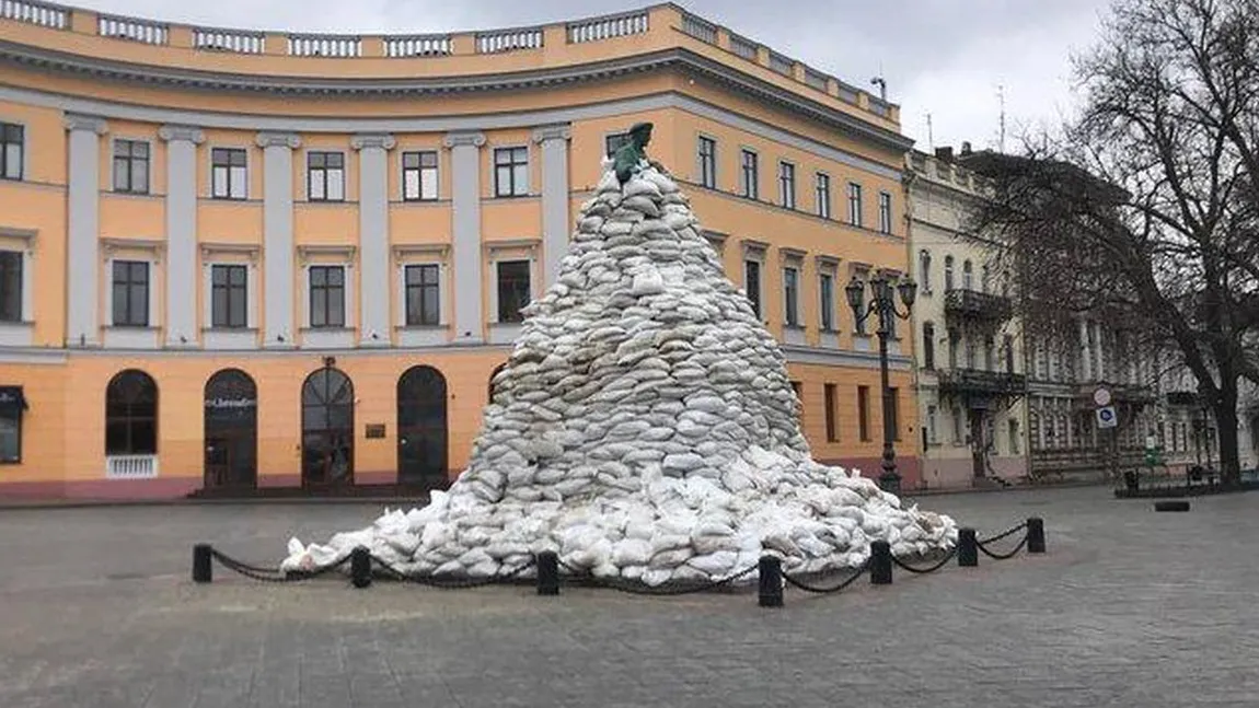
[[(15, 44), (166, 69), (303, 78), (312, 75), (311, 65), (282, 59), (353, 59), (356, 64), (337, 64), (335, 69), (327, 64), (329, 73), (322, 75), (405, 78), (563, 67), (685, 48), (876, 123), (899, 121), (895, 104), (674, 4), (538, 26), (374, 35), (209, 28), (102, 14), (44, 0), (0, 0), (0, 34)], [(480, 59), (463, 64), (437, 64), (476, 57)], [(520, 60), (512, 59), (516, 57)], [(368, 62), (373, 59), (397, 62)], [(433, 68), (417, 73), (414, 67), (404, 65), (405, 60), (428, 62)]]

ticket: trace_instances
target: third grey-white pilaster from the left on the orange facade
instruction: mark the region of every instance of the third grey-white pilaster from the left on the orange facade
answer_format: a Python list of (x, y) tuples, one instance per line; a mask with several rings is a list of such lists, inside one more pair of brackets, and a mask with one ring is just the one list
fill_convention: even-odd
[(292, 348), (293, 328), (293, 150), (302, 141), (293, 133), (258, 133), (264, 148), (262, 180), (262, 346)]

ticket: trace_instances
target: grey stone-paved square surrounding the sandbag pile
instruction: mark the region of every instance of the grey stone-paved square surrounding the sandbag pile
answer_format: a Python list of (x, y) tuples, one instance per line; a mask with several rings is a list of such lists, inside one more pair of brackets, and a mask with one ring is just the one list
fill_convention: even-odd
[(590, 589), (298, 586), (273, 563), (368, 506), (0, 512), (0, 705), (1259, 704), (1259, 494), (1190, 513), (1104, 488), (930, 497), (982, 534), (1045, 518), (1046, 556), (948, 566), (833, 596), (648, 599)]

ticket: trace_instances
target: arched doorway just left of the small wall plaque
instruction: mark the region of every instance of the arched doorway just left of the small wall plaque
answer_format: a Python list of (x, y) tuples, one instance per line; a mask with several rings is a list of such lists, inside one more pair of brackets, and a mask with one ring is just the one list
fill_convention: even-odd
[(354, 484), (354, 384), (339, 368), (302, 384), (302, 485)]

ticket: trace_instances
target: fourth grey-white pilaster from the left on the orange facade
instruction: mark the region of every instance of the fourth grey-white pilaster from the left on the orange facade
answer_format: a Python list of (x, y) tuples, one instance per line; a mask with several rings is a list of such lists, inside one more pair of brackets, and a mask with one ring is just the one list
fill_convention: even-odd
[[(359, 346), (388, 347), (389, 338), (389, 152), (388, 135), (354, 136), (359, 151), (359, 253), (363, 293)], [(373, 335), (375, 337), (373, 338)]]

